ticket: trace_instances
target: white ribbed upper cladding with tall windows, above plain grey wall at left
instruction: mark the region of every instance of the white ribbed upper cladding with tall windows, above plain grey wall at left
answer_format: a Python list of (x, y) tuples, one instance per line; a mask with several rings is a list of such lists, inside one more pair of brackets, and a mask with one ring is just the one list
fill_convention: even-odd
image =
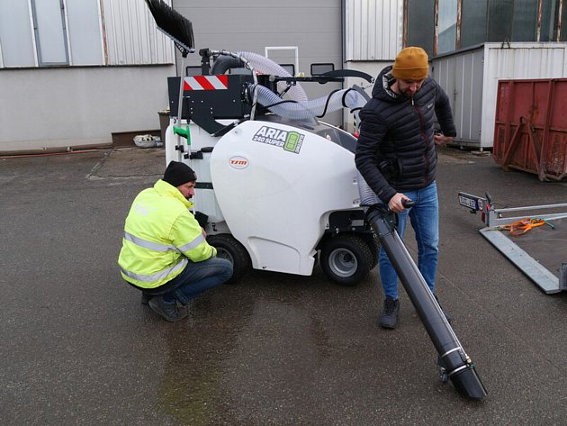
[(0, 68), (174, 62), (143, 0), (0, 0)]

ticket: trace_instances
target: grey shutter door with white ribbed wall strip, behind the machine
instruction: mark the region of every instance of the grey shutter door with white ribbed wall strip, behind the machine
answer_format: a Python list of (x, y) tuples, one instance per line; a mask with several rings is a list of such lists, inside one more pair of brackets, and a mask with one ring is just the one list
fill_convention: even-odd
[[(173, 0), (176, 11), (193, 23), (196, 50), (245, 50), (265, 54), (266, 47), (297, 48), (295, 73), (309, 76), (312, 63), (332, 63), (371, 76), (392, 63), (401, 49), (404, 0), (288, 0), (266, 2), (242, 0)], [(270, 50), (269, 58), (280, 64), (293, 63), (293, 50)], [(179, 59), (179, 58), (178, 58)], [(179, 62), (179, 60), (178, 60)], [(186, 59), (197, 67), (195, 53)], [(361, 78), (345, 83), (303, 84), (310, 99), (330, 91), (372, 84)], [(353, 130), (352, 114), (333, 113), (324, 121)]]

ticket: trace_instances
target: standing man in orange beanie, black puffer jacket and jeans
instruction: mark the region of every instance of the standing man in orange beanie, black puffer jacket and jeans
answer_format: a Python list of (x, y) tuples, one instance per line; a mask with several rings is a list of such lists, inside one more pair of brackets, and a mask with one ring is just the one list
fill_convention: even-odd
[[(435, 182), (436, 145), (456, 136), (449, 99), (428, 77), (428, 54), (419, 47), (400, 51), (393, 66), (384, 68), (374, 83), (372, 99), (360, 112), (356, 168), (383, 204), (398, 213), (403, 238), (410, 216), (418, 242), (418, 267), (435, 295), (439, 241), (439, 204)], [(441, 132), (434, 131), (435, 117)], [(415, 204), (404, 208), (402, 200)], [(398, 276), (380, 249), (380, 276), (385, 295), (380, 325), (398, 322)]]

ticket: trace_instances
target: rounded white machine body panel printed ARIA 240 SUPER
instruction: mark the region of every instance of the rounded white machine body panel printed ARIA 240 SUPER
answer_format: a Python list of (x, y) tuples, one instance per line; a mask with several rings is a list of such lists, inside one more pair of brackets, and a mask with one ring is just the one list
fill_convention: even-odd
[(359, 207), (354, 154), (302, 128), (242, 122), (217, 141), (210, 168), (221, 215), (256, 269), (311, 275), (329, 213)]

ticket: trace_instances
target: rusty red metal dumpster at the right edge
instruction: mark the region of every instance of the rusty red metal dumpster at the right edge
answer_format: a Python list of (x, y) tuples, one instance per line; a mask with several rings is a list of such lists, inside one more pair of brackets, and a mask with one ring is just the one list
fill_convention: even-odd
[(567, 78), (500, 80), (492, 157), (502, 168), (567, 175)]

